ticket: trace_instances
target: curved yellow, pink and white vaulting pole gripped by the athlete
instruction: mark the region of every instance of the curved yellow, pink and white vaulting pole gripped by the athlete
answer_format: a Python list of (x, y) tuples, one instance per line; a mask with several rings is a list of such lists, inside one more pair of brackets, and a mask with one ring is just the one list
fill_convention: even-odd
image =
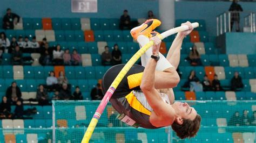
[[(192, 23), (192, 26), (194, 28), (196, 28), (196, 27), (199, 26), (199, 24), (198, 23)], [(166, 37), (169, 37), (172, 34), (175, 34), (175, 33), (181, 32), (181, 31), (186, 31), (188, 29), (189, 28), (188, 28), (187, 25), (179, 26), (179, 27), (172, 28), (170, 30), (167, 30), (167, 31), (161, 33), (160, 35), (158, 35), (158, 37), (162, 40)], [(131, 69), (131, 67), (134, 65), (134, 63), (140, 58), (140, 56), (142, 56), (147, 51), (147, 49), (149, 49), (151, 46), (153, 46), (153, 44), (154, 44), (154, 42), (151, 40), (145, 46), (140, 48), (139, 51), (136, 52), (132, 56), (132, 58), (126, 63), (126, 65), (123, 67), (123, 69), (117, 75), (117, 77), (114, 79), (113, 83), (110, 85), (110, 87), (107, 90), (106, 94), (104, 95), (102, 101), (100, 102), (95, 114), (93, 115), (93, 117), (91, 119), (91, 122), (90, 122), (89, 126), (87, 127), (87, 130), (84, 134), (82, 143), (89, 142), (89, 140), (92, 136), (92, 133), (95, 130), (95, 127), (98, 123), (98, 120), (99, 120), (100, 116), (102, 115), (104, 109), (106, 108), (107, 103), (109, 102), (109, 99), (113, 95), (113, 93), (116, 90), (116, 88), (118, 87), (119, 83), (123, 80), (124, 76)]]

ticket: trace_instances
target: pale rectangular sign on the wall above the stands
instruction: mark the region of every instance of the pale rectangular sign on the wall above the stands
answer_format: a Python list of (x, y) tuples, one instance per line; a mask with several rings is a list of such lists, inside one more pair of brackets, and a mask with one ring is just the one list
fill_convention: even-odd
[(72, 12), (97, 12), (97, 0), (71, 0)]

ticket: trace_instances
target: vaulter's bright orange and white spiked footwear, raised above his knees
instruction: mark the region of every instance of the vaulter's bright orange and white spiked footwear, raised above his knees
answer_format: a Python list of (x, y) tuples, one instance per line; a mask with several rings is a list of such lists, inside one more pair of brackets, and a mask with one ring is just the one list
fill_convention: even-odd
[(161, 22), (158, 19), (149, 19), (149, 20), (146, 20), (146, 22), (143, 23), (142, 25), (132, 28), (130, 33), (134, 40), (137, 40), (137, 37), (139, 35), (145, 35), (147, 37), (150, 37), (151, 35), (150, 32), (152, 32), (160, 24)]

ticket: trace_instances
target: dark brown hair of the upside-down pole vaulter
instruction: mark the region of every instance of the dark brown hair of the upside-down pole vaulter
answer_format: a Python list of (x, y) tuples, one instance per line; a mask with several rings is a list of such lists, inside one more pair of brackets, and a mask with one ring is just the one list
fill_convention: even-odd
[(172, 124), (172, 130), (176, 132), (176, 135), (180, 139), (191, 138), (197, 135), (200, 128), (201, 116), (197, 115), (194, 120), (183, 119), (183, 124), (174, 122)]

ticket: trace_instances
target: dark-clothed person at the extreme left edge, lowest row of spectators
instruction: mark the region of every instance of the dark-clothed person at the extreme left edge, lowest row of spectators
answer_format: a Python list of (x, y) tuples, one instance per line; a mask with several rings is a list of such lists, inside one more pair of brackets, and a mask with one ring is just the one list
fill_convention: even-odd
[(0, 119), (11, 118), (11, 103), (8, 101), (6, 96), (3, 96), (0, 104)]

